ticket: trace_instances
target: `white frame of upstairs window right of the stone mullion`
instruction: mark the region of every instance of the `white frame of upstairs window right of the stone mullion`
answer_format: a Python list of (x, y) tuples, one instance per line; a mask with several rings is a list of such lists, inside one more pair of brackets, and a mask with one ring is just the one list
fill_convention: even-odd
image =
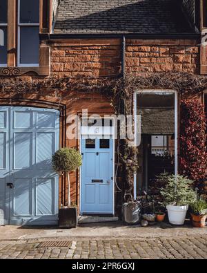
[[(38, 64), (21, 64), (20, 62), (20, 46), (21, 46), (21, 35), (20, 35), (20, 30), (21, 27), (34, 27), (40, 26), (40, 19), (39, 19), (39, 23), (20, 23), (20, 2), (21, 0), (18, 0), (18, 7), (17, 7), (17, 67), (39, 67), (39, 63)], [(39, 6), (40, 6), (41, 2), (39, 1)]]

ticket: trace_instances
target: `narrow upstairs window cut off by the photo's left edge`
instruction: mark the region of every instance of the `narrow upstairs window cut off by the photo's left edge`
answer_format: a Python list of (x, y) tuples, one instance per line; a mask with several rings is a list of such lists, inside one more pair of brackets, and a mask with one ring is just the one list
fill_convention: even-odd
[(0, 66), (7, 64), (7, 10), (8, 0), (0, 1), (0, 29), (3, 31), (3, 46), (0, 46)]

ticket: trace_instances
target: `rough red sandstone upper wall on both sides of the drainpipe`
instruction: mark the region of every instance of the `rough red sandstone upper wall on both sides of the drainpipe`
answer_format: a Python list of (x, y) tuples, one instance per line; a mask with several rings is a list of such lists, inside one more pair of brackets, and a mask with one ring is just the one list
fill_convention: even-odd
[[(112, 76), (121, 71), (121, 40), (71, 40), (53, 44), (51, 75)], [(195, 40), (126, 41), (126, 73), (199, 73), (199, 46)]]

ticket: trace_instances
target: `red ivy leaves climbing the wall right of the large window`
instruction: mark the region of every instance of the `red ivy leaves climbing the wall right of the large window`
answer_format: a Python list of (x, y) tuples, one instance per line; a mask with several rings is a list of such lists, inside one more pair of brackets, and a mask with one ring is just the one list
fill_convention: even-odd
[(207, 178), (206, 115), (199, 100), (181, 101), (180, 172), (199, 183)]

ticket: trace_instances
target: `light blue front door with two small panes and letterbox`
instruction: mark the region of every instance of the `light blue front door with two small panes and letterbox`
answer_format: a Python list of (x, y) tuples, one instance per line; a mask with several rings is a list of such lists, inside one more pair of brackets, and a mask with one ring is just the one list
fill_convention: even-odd
[(81, 214), (113, 214), (113, 140), (82, 139)]

